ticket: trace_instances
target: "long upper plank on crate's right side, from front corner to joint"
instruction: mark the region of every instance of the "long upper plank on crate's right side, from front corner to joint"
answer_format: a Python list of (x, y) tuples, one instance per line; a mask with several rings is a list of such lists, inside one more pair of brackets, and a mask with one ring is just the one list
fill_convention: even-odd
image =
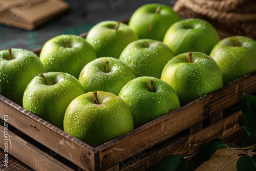
[(100, 169), (107, 169), (204, 120), (208, 117), (208, 106), (209, 98), (204, 96), (129, 134), (96, 147), (100, 155)]

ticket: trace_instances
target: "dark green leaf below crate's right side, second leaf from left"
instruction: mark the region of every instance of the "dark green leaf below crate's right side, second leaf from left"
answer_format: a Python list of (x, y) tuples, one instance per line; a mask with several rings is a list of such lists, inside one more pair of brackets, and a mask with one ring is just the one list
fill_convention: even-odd
[(226, 144), (219, 138), (213, 139), (210, 142), (202, 144), (198, 154), (195, 157), (195, 162), (202, 163), (211, 158), (218, 149), (226, 147)]

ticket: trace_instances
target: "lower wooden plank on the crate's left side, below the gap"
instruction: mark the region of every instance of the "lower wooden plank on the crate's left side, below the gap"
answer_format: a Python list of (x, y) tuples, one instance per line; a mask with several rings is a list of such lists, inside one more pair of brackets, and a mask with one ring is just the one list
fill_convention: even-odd
[[(0, 131), (4, 132), (4, 126), (0, 125)], [(73, 170), (67, 165), (54, 159), (52, 156), (41, 151), (39, 148), (20, 138), (10, 130), (7, 131), (7, 138), (1, 134), (1, 139), (6, 143), (0, 143), (2, 149), (7, 149), (8, 154), (18, 158), (34, 170)], [(5, 140), (7, 139), (7, 140)], [(8, 156), (7, 156), (8, 157)]]

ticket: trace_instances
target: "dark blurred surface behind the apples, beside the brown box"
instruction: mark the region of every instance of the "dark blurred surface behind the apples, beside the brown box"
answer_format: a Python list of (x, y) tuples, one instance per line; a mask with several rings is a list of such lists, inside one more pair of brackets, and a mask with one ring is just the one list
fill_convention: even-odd
[(70, 9), (61, 16), (51, 19), (33, 31), (0, 25), (0, 50), (23, 48), (33, 50), (60, 34), (80, 34), (87, 32), (103, 20), (123, 20), (143, 4), (161, 3), (174, 6), (176, 0), (65, 0)]

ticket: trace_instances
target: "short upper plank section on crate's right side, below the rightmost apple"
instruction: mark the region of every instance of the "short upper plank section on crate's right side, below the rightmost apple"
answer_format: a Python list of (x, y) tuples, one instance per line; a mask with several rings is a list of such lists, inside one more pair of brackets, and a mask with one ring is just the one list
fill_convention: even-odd
[(252, 95), (255, 92), (256, 72), (252, 72), (210, 94), (210, 115), (241, 101), (244, 93)]

